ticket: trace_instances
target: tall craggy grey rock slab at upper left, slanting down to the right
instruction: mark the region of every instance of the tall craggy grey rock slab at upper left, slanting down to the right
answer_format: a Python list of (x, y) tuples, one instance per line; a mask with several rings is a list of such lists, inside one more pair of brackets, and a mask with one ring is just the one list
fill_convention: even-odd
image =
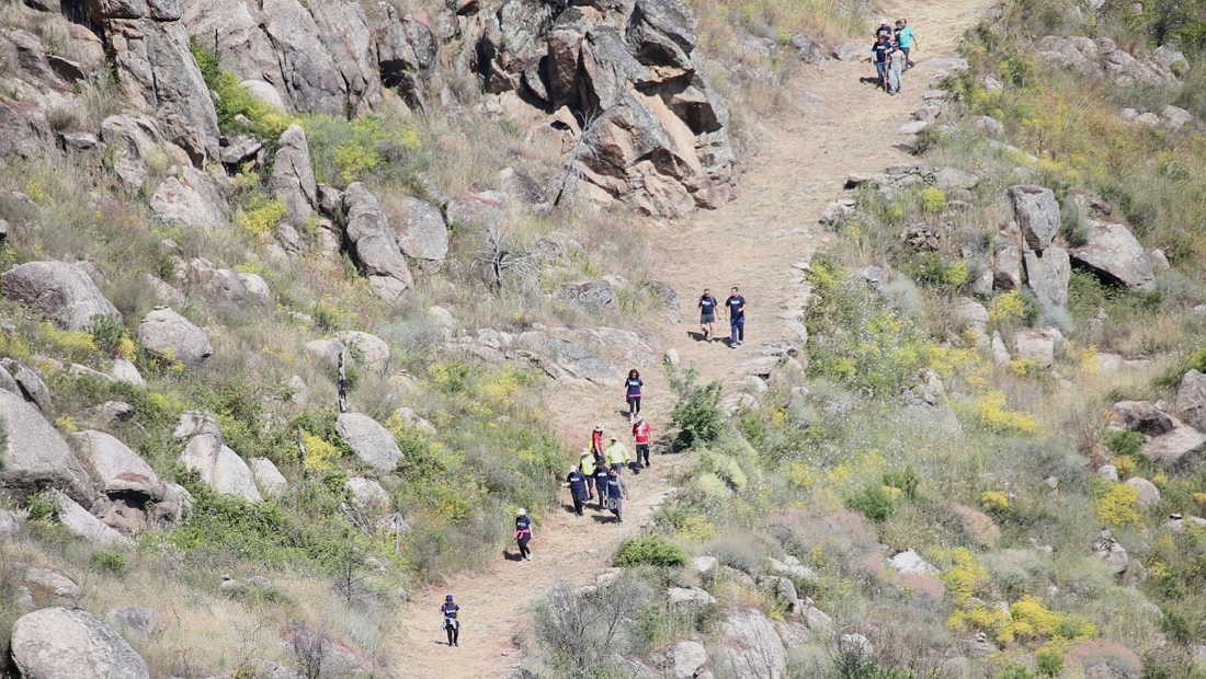
[(87, 5), (103, 26), (125, 95), (154, 112), (166, 137), (193, 164), (217, 158), (218, 119), (180, 22), (180, 2), (90, 0)]

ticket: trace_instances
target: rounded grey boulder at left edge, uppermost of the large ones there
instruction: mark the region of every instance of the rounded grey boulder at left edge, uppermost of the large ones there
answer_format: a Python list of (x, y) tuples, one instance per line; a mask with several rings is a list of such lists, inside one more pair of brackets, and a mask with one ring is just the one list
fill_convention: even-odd
[(65, 261), (29, 261), (14, 266), (0, 274), (0, 287), (5, 297), (68, 330), (87, 330), (98, 315), (122, 318), (88, 273)]

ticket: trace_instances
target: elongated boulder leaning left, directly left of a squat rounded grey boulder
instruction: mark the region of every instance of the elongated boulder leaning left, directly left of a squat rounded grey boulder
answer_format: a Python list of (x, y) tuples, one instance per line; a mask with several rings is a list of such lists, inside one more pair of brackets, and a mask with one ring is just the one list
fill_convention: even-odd
[(377, 197), (356, 182), (344, 193), (347, 242), (369, 285), (387, 302), (398, 301), (414, 284), (406, 258)]

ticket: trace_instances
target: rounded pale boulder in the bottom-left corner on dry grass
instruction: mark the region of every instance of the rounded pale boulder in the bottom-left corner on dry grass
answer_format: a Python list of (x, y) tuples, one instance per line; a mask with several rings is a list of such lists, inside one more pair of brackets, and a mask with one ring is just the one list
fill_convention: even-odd
[(84, 610), (43, 608), (12, 627), (12, 659), (22, 677), (147, 679), (146, 661), (117, 632)]

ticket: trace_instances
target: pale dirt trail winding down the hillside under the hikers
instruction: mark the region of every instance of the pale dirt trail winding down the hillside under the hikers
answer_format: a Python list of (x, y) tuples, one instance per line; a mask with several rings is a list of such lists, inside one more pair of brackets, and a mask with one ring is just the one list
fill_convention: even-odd
[[(873, 75), (866, 63), (826, 63), (802, 69), (786, 85), (788, 105), (771, 120), (762, 120), (760, 153), (744, 159), (737, 197), (713, 212), (699, 212), (685, 223), (655, 228), (651, 261), (658, 277), (683, 296), (687, 321), (658, 324), (645, 330), (663, 348), (678, 349), (685, 365), (698, 368), (706, 380), (734, 385), (744, 376), (740, 364), (766, 340), (791, 337), (788, 320), (800, 318), (807, 299), (802, 272), (794, 265), (808, 261), (824, 241), (818, 218), (855, 171), (877, 171), (912, 161), (896, 144), (897, 129), (920, 108), (923, 91), (931, 87), (933, 69), (926, 61), (955, 55), (958, 37), (977, 19), (983, 0), (924, 0), (908, 2), (902, 16), (918, 31), (918, 67), (906, 75), (897, 96), (876, 91), (860, 77)], [(896, 10), (883, 12), (895, 17)], [(867, 40), (870, 51), (870, 39)], [(704, 287), (719, 299), (731, 285), (749, 301), (747, 346), (727, 349), (719, 342), (696, 342), (693, 300)], [(727, 327), (718, 330), (727, 333)], [(646, 415), (665, 427), (671, 396), (656, 366), (644, 371), (651, 403)], [(619, 415), (620, 390), (554, 386), (548, 400), (555, 424), (572, 449), (580, 448), (593, 421), (624, 435)], [(519, 662), (515, 637), (529, 627), (529, 607), (558, 580), (585, 583), (608, 566), (615, 544), (639, 533), (657, 503), (671, 491), (673, 468), (684, 460), (655, 457), (654, 467), (630, 478), (633, 500), (625, 522), (607, 521), (587, 512), (576, 518), (550, 512), (537, 522), (534, 560), (514, 562), (498, 557), (480, 571), (417, 592), (399, 614), (396, 656), (408, 659), (397, 668), (402, 677), (498, 677)], [(567, 465), (568, 466), (568, 465)], [(461, 648), (440, 642), (438, 608), (445, 592), (463, 608)]]

